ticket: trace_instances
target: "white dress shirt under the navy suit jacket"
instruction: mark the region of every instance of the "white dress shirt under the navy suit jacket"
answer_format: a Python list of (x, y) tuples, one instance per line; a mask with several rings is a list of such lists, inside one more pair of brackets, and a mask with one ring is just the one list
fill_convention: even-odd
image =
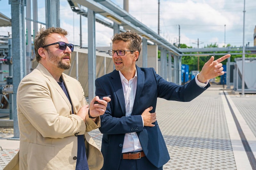
[[(135, 99), (135, 94), (137, 89), (137, 69), (135, 70), (135, 76), (129, 81), (124, 77), (121, 71), (119, 71), (119, 75), (121, 78), (123, 91), (124, 91), (125, 116), (128, 117), (132, 115), (132, 109), (133, 109), (133, 104), (134, 104), (134, 99)], [(195, 80), (196, 80), (196, 84), (202, 88), (204, 88), (209, 82), (209, 80), (207, 80), (205, 83), (199, 82), (197, 80), (197, 75)], [(142, 116), (141, 116), (141, 119), (142, 119)], [(143, 122), (143, 119), (142, 119), (142, 122)], [(144, 122), (143, 122), (143, 126), (144, 126)], [(142, 147), (140, 145), (140, 140), (137, 133), (136, 132), (125, 133), (122, 153), (137, 152), (137, 151), (142, 151)]]

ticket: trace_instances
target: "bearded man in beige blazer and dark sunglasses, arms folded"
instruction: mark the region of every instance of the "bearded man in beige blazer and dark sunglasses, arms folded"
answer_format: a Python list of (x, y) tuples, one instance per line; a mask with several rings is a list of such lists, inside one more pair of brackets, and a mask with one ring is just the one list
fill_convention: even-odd
[(102, 154), (87, 132), (100, 127), (99, 116), (110, 98), (96, 96), (89, 107), (80, 83), (63, 73), (71, 66), (74, 50), (66, 35), (66, 30), (54, 27), (36, 35), (39, 64), (21, 80), (17, 91), (20, 151), (6, 170), (99, 170), (103, 166)]

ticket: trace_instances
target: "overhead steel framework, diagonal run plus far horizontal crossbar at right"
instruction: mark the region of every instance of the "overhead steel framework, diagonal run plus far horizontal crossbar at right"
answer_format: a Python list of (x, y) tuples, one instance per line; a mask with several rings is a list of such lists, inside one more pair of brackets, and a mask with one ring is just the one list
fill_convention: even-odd
[[(124, 29), (120, 29), (120, 31), (125, 30), (134, 30), (138, 34), (140, 34), (142, 37), (145, 37), (147, 40), (152, 41), (159, 47), (162, 47), (164, 49), (170, 50), (176, 55), (179, 56), (186, 56), (188, 54), (184, 53), (193, 53), (193, 52), (202, 52), (204, 54), (201, 55), (216, 55), (215, 52), (217, 51), (223, 51), (223, 55), (225, 55), (225, 51), (241, 51), (242, 48), (177, 48), (176, 46), (172, 45), (168, 41), (166, 41), (163, 37), (155, 33), (153, 30), (142, 24), (140, 21), (138, 21), (136, 18), (132, 17), (127, 11), (120, 8), (120, 6), (114, 4), (110, 0), (68, 0), (71, 8), (76, 13), (81, 13), (81, 15), (87, 17), (87, 11), (85, 11), (83, 8), (86, 7), (92, 11), (94, 11), (97, 14), (100, 14), (103, 16), (103, 18), (108, 18), (109, 20), (112, 20), (113, 22), (117, 23), (119, 26), (122, 26)], [(85, 14), (86, 13), (86, 14)], [(113, 24), (109, 23), (105, 19), (95, 16), (95, 19), (97, 22), (108, 26), (110, 28), (113, 28)], [(255, 54), (256, 50), (255, 47), (249, 48), (245, 47), (245, 50), (247, 51), (246, 54)], [(232, 53), (231, 54), (241, 54), (241, 53)], [(191, 54), (190, 54), (191, 55)], [(193, 54), (198, 55), (198, 54)], [(218, 55), (222, 55), (222, 53), (219, 53)]]

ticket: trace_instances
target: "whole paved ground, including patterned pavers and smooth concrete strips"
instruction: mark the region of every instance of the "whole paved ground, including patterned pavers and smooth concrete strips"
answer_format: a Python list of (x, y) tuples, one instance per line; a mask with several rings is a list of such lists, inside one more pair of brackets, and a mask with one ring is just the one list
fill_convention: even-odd
[[(191, 102), (157, 100), (157, 121), (171, 157), (164, 169), (255, 169), (256, 94), (222, 88), (212, 85)], [(90, 134), (100, 147), (100, 131)], [(19, 150), (19, 141), (7, 138), (0, 137), (0, 170)]]

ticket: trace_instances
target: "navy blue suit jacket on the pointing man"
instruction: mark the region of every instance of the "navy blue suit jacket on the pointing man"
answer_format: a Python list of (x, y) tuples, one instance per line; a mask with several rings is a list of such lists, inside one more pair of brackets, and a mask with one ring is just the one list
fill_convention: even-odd
[(124, 92), (119, 72), (106, 74), (95, 80), (96, 95), (99, 97), (111, 95), (104, 115), (100, 116), (100, 132), (103, 133), (101, 152), (104, 157), (104, 170), (117, 170), (122, 156), (124, 134), (136, 132), (142, 149), (148, 160), (156, 167), (161, 167), (170, 159), (164, 138), (156, 126), (148, 127), (142, 123), (142, 112), (153, 106), (150, 111), (156, 111), (158, 97), (166, 100), (191, 101), (205, 88), (196, 85), (195, 79), (185, 85), (176, 85), (164, 80), (156, 74), (153, 68), (137, 68), (137, 90), (132, 109), (132, 116), (125, 117)]

